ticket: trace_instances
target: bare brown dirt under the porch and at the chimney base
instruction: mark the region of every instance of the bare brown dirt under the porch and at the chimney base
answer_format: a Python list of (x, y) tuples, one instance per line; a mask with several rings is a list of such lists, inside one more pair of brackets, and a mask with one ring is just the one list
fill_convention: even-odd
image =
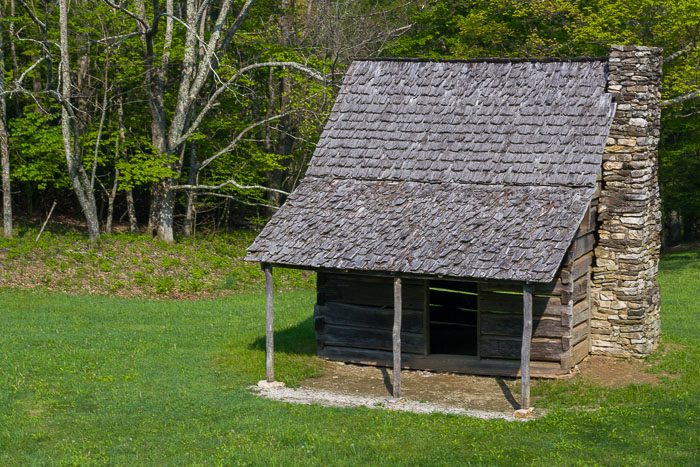
[[(567, 378), (583, 378), (608, 387), (658, 384), (659, 375), (646, 372), (647, 367), (648, 364), (640, 361), (593, 356)], [(391, 396), (391, 368), (326, 361), (324, 369), (323, 376), (307, 379), (301, 387), (344, 396)], [(504, 413), (519, 408), (517, 378), (404, 371), (401, 388), (401, 395), (410, 401)]]

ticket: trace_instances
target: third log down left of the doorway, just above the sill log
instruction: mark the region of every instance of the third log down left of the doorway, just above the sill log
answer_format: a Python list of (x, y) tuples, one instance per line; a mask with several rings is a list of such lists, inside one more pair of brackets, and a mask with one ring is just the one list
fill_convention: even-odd
[[(390, 351), (393, 344), (390, 330), (340, 326), (327, 323), (322, 326), (321, 332), (317, 331), (316, 337), (324, 348), (334, 345)], [(401, 333), (401, 353), (423, 354), (424, 349), (425, 336), (423, 334)]]

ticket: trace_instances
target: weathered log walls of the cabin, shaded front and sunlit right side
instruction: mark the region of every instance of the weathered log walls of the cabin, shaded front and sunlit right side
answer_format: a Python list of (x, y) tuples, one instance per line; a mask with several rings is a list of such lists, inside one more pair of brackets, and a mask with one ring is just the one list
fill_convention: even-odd
[[(590, 353), (596, 204), (594, 201), (589, 207), (556, 279), (533, 285), (533, 376), (568, 373)], [(411, 278), (402, 282), (404, 367), (518, 374), (522, 284)], [(393, 313), (391, 277), (319, 272), (314, 309), (319, 356), (391, 366)], [(443, 331), (436, 332), (440, 326)], [(465, 333), (462, 328), (473, 331)], [(473, 348), (462, 346), (447, 354), (441, 350), (451, 347), (436, 342), (431, 345), (431, 334), (448, 339), (450, 333), (459, 332), (459, 336), (474, 339)]]

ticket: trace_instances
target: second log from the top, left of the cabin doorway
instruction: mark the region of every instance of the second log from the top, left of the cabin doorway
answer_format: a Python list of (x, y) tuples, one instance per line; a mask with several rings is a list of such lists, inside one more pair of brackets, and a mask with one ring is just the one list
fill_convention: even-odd
[[(378, 308), (363, 305), (350, 305), (339, 302), (326, 302), (314, 306), (314, 316), (323, 317), (328, 324), (341, 324), (357, 327), (391, 330), (394, 324), (393, 308)], [(423, 332), (423, 310), (402, 310), (401, 329), (408, 332)]]

